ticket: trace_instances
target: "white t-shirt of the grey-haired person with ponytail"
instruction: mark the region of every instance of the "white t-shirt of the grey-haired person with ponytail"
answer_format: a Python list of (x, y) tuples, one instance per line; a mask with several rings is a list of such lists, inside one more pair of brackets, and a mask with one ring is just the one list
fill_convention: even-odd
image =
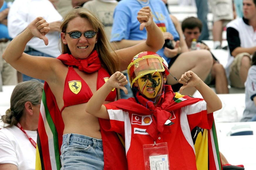
[[(37, 131), (26, 133), (36, 142)], [(35, 170), (35, 147), (17, 126), (0, 130), (0, 164), (14, 164), (19, 170)]]

